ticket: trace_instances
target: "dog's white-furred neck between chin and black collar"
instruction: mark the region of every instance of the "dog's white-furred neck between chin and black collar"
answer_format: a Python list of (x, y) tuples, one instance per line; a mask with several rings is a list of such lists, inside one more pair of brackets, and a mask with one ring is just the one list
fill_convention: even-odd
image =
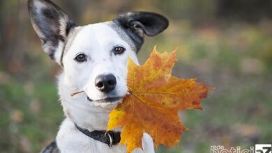
[(93, 130), (106, 130), (109, 120), (109, 112), (112, 108), (99, 108), (92, 106), (84, 93), (70, 96), (70, 93), (78, 91), (73, 81), (68, 81), (62, 73), (59, 76), (59, 97), (66, 118), (69, 118), (78, 126)]

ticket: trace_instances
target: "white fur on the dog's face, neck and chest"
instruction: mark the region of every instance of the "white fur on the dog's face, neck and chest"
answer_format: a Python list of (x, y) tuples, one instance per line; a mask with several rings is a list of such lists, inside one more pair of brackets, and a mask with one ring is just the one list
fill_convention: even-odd
[[(123, 145), (108, 147), (105, 143), (85, 136), (76, 129), (74, 123), (89, 131), (107, 129), (108, 114), (121, 99), (113, 103), (100, 103), (89, 102), (86, 97), (88, 95), (93, 100), (105, 96), (124, 97), (128, 91), (128, 56), (138, 63), (135, 51), (107, 22), (77, 27), (75, 31), (74, 40), (63, 56), (63, 72), (59, 76), (59, 95), (67, 118), (61, 124), (56, 143), (60, 151), (65, 153), (126, 152)], [(126, 48), (126, 51), (114, 55), (112, 49), (116, 45)], [(86, 54), (88, 60), (83, 63), (75, 61), (79, 53)], [(100, 74), (114, 74), (117, 81), (115, 95), (105, 95), (96, 89), (94, 80)], [(84, 90), (84, 93), (70, 96), (72, 92), (80, 90)], [(137, 149), (134, 152), (154, 152), (153, 140), (148, 134), (144, 134), (142, 145), (143, 150)]]

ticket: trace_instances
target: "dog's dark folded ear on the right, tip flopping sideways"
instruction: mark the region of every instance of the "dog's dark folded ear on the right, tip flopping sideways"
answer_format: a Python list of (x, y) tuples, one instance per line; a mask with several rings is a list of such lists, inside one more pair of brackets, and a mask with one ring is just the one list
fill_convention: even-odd
[(144, 34), (154, 36), (163, 32), (168, 27), (168, 19), (157, 13), (129, 12), (119, 15), (114, 22), (121, 26), (126, 34), (135, 42), (140, 49), (144, 42)]

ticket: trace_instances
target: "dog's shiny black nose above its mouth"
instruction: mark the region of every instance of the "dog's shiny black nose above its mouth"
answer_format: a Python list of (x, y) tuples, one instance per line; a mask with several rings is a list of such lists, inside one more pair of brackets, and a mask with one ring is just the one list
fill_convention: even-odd
[(95, 80), (96, 88), (102, 92), (114, 90), (116, 86), (116, 78), (113, 74), (99, 75)]

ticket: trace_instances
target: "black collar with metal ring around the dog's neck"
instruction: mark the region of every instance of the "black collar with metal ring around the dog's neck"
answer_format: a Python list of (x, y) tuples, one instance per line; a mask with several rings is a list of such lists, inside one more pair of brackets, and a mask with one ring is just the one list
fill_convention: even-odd
[(75, 124), (78, 130), (80, 130), (86, 136), (89, 136), (95, 140), (99, 140), (102, 143), (106, 143), (109, 147), (117, 145), (120, 142), (120, 132), (116, 131), (89, 131), (88, 129), (82, 129)]

